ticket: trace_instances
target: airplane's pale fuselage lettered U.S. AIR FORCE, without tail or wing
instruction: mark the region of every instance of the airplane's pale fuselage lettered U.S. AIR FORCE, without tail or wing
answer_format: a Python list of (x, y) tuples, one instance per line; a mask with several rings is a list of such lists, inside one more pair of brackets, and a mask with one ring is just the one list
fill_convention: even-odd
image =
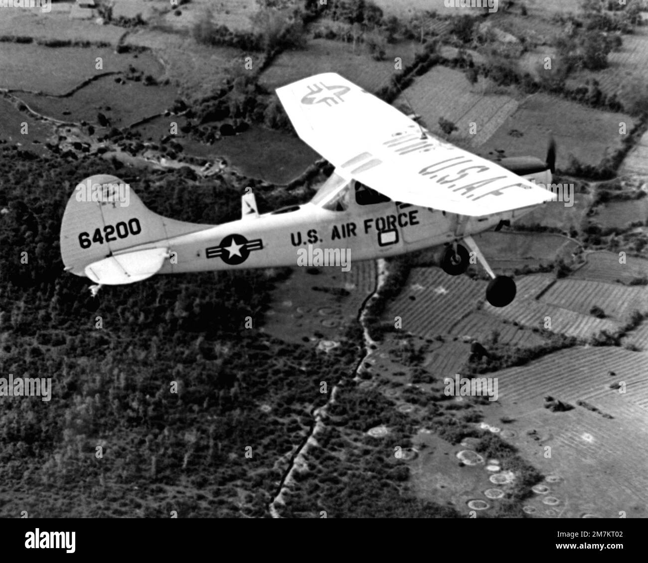
[(459, 225), (456, 214), (393, 201), (354, 204), (345, 211), (305, 203), (295, 211), (252, 215), (171, 238), (168, 248), (172, 259), (165, 260), (159, 273), (297, 266), (297, 251), (309, 246), (349, 249), (351, 262), (391, 257), (476, 235), (535, 207), (465, 217), (465, 223)]

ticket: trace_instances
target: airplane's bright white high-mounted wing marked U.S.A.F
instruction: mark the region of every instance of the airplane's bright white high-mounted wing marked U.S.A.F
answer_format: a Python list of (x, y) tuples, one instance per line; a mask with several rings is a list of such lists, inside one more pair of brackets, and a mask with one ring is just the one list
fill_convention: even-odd
[(336, 73), (277, 89), (295, 131), (336, 167), (395, 201), (482, 216), (538, 205), (553, 194), (421, 128)]

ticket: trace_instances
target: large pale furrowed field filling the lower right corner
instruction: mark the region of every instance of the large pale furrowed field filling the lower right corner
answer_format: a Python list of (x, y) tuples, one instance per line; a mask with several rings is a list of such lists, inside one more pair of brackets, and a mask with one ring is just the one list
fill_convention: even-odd
[[(496, 425), (505, 428), (509, 441), (542, 473), (555, 476), (544, 483), (549, 490), (536, 497), (559, 500), (553, 516), (593, 513), (605, 518), (617, 516), (619, 510), (627, 511), (629, 518), (646, 516), (636, 494), (648, 484), (642, 469), (648, 454), (637, 445), (648, 438), (647, 361), (641, 352), (579, 347), (492, 374), (498, 378), (499, 407), (513, 420)], [(610, 388), (619, 381), (625, 382), (626, 393)], [(552, 413), (542, 408), (548, 395), (575, 408)], [(578, 400), (599, 411), (577, 406)], [(499, 422), (494, 413), (487, 413), (486, 421), (491, 420)], [(546, 446), (551, 447), (551, 457), (543, 455)]]

